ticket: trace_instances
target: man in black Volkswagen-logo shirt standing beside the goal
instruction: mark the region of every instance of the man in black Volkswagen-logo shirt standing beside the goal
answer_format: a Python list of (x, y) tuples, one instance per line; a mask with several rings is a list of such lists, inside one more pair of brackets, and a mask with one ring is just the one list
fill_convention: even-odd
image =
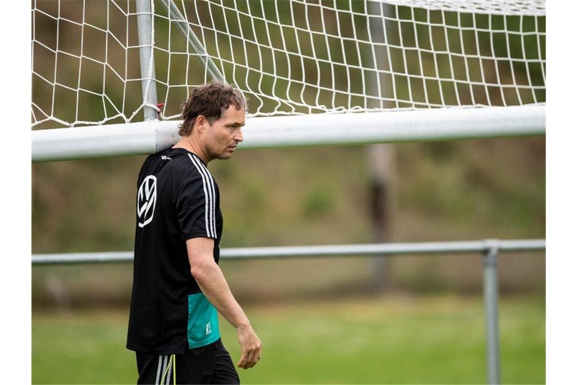
[(232, 87), (195, 88), (181, 139), (150, 155), (138, 177), (134, 281), (127, 348), (138, 383), (239, 383), (221, 343), (217, 310), (237, 330), (238, 367), (261, 358), (261, 341), (218, 267), (223, 217), (207, 164), (243, 140), (246, 103)]

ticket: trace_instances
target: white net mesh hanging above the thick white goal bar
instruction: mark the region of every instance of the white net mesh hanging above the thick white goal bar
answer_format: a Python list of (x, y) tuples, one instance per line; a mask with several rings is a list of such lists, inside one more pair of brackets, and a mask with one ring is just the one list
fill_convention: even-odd
[[(249, 116), (546, 101), (544, 1), (153, 1), (157, 103), (143, 98), (134, 0), (37, 1), (35, 128), (180, 116), (214, 77)], [(166, 4), (166, 6), (165, 6)]]

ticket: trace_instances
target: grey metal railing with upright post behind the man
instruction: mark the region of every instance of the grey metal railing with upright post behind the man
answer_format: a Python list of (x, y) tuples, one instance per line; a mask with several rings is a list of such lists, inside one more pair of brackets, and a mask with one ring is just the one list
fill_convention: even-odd
[[(327, 257), (395, 256), (416, 254), (481, 253), (484, 266), (484, 306), (486, 308), (486, 360), (488, 383), (499, 384), (498, 255), (499, 252), (543, 251), (546, 240), (481, 240), (458, 242), (418, 242), (360, 245), (278, 246), (225, 248), (221, 258), (230, 260)], [(130, 262), (133, 252), (35, 254), (33, 265)]]

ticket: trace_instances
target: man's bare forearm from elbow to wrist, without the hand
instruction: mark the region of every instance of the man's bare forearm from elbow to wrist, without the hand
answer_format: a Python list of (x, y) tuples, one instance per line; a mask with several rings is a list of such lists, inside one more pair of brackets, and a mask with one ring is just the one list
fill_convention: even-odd
[(191, 269), (191, 274), (205, 297), (228, 322), (236, 328), (249, 326), (249, 319), (233, 297), (225, 276), (216, 263), (208, 263), (205, 266)]

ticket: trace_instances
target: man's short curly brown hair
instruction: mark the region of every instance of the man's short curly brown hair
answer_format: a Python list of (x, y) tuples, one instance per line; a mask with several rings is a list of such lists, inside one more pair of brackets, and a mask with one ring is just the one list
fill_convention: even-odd
[(191, 91), (186, 102), (181, 104), (183, 123), (179, 125), (179, 135), (188, 136), (198, 115), (203, 115), (212, 125), (229, 106), (246, 110), (247, 103), (238, 90), (230, 85), (212, 81)]

